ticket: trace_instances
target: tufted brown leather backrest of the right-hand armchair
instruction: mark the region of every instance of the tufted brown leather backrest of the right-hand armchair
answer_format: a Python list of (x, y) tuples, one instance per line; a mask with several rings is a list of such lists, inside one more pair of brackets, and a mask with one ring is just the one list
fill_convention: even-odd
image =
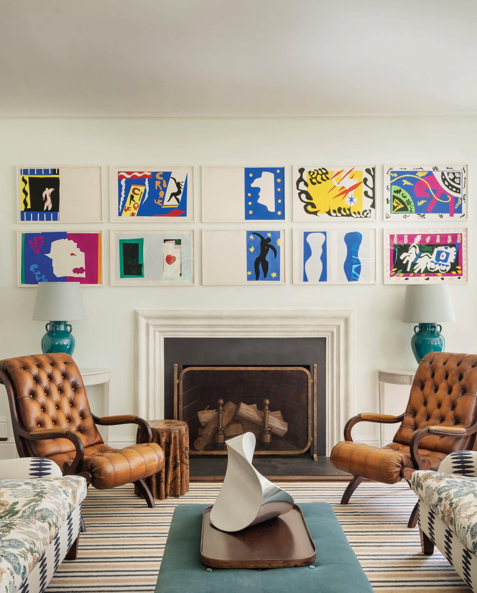
[[(404, 419), (393, 442), (409, 445), (415, 431), (426, 426), (468, 428), (477, 416), (477, 356), (431, 352), (420, 362)], [(441, 453), (468, 448), (470, 436), (425, 436), (419, 449)]]

